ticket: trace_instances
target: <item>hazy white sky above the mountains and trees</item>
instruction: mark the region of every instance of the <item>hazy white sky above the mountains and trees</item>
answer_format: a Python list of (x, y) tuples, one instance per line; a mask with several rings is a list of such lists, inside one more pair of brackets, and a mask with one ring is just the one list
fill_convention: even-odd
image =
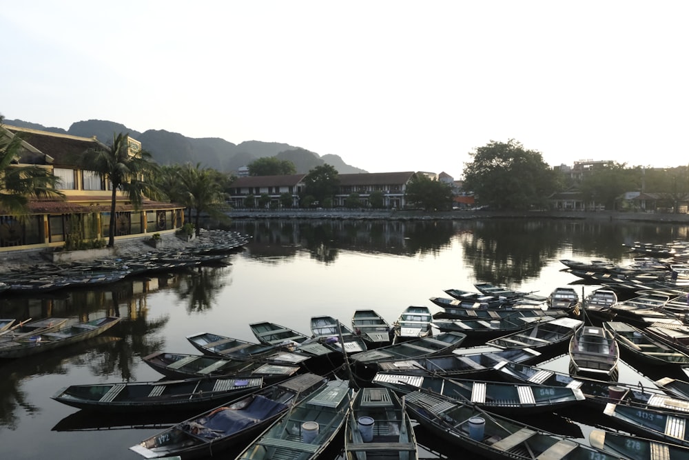
[(0, 113), (276, 141), (369, 172), (516, 139), (689, 162), (686, 1), (90, 1), (0, 8)]

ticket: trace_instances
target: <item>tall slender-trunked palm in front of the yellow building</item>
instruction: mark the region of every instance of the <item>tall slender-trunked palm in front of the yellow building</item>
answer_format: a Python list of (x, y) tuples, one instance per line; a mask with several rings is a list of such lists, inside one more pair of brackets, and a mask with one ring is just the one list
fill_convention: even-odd
[(141, 206), (145, 194), (154, 190), (152, 183), (147, 181), (156, 170), (151, 161), (151, 154), (140, 150), (130, 154), (129, 134), (113, 134), (112, 143), (102, 148), (89, 149), (81, 154), (79, 166), (84, 170), (93, 171), (105, 177), (110, 182), (112, 199), (110, 201), (110, 234), (107, 247), (115, 244), (115, 205), (117, 190), (127, 194), (135, 209)]

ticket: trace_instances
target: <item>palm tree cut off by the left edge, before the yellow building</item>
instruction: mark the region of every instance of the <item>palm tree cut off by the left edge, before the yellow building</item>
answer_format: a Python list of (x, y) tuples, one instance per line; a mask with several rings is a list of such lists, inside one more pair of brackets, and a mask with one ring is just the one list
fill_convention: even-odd
[(26, 214), (30, 198), (64, 197), (56, 190), (59, 179), (52, 170), (38, 164), (19, 166), (21, 137), (2, 128), (0, 115), (0, 208), (8, 214)]

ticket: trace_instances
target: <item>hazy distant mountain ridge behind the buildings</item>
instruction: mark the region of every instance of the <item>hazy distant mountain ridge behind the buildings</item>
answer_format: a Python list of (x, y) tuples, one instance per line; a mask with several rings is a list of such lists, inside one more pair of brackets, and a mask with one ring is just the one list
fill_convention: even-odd
[(5, 120), (4, 123), (21, 128), (31, 128), (71, 134), (80, 137), (96, 136), (101, 142), (108, 143), (113, 134), (128, 133), (138, 141), (143, 148), (151, 152), (153, 159), (161, 165), (174, 163), (200, 163), (201, 166), (214, 168), (223, 172), (234, 172), (241, 166), (247, 166), (251, 161), (263, 157), (278, 157), (294, 163), (298, 173), (309, 172), (316, 166), (325, 163), (333, 166), (340, 174), (354, 174), (367, 172), (354, 166), (349, 166), (338, 155), (326, 154), (322, 157), (304, 148), (290, 146), (286, 143), (245, 141), (238, 145), (220, 139), (206, 137), (194, 139), (177, 132), (165, 130), (147, 130), (138, 132), (130, 130), (121, 123), (105, 120), (77, 121), (70, 129), (46, 128), (37, 123), (23, 120)]

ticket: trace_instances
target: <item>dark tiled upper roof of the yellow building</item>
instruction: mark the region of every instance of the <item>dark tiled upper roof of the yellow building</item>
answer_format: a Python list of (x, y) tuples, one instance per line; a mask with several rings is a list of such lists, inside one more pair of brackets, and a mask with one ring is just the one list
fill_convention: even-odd
[(6, 130), (19, 135), (23, 141), (52, 157), (54, 166), (74, 166), (76, 157), (90, 148), (102, 148), (103, 144), (88, 137), (70, 136), (55, 132), (3, 126)]

